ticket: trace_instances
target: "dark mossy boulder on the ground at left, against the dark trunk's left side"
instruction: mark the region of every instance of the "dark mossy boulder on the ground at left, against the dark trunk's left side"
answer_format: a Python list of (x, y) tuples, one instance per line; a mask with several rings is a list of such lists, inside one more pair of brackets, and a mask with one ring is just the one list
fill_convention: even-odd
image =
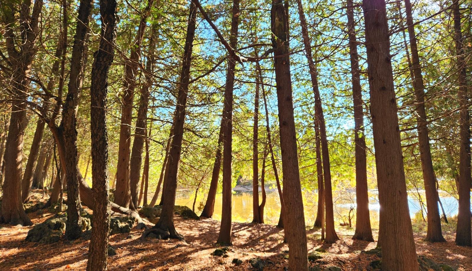
[(66, 230), (65, 218), (50, 218), (43, 223), (37, 224), (28, 231), (26, 241), (42, 244), (58, 242)]

